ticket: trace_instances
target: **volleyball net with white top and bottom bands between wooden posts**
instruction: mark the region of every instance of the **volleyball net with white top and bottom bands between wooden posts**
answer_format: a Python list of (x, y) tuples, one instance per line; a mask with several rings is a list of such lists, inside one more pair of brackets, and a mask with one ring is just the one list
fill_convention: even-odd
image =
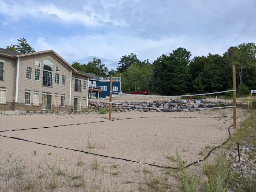
[[(112, 107), (116, 111), (202, 111), (204, 109), (232, 108), (236, 107), (233, 103), (226, 103), (223, 100), (216, 99), (217, 95), (236, 90), (201, 93), (193, 95), (145, 95), (145, 94), (127, 94), (112, 91)], [(202, 99), (202, 96), (207, 96)], [(210, 96), (210, 97), (209, 97)], [(196, 99), (200, 97), (200, 99)], [(191, 99), (193, 98), (193, 99)]]

